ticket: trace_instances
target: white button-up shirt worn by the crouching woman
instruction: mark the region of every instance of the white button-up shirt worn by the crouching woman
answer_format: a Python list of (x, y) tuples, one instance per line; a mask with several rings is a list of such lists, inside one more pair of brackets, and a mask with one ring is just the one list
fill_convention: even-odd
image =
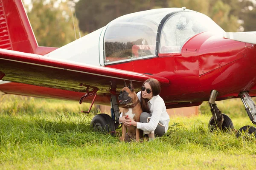
[[(137, 93), (140, 100), (141, 91)], [(141, 101), (141, 100), (140, 100)], [(169, 126), (169, 115), (166, 111), (166, 106), (162, 97), (159, 95), (153, 96), (152, 99), (148, 101), (148, 109), (152, 115), (148, 123), (137, 122), (137, 128), (143, 131), (154, 131), (157, 128), (158, 122), (162, 122), (165, 127), (165, 132), (168, 130)]]

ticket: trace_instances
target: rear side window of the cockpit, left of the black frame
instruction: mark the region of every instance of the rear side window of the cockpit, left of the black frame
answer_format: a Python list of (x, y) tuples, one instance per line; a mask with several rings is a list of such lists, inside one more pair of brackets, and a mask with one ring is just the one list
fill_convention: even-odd
[(157, 31), (154, 29), (143, 24), (120, 23), (112, 25), (111, 29), (105, 41), (105, 56), (109, 62), (155, 54)]

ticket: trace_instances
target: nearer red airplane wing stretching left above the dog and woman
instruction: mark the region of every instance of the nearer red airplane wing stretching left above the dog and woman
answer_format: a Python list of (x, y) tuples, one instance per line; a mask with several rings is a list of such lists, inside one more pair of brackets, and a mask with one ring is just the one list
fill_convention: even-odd
[(162, 86), (169, 85), (169, 80), (164, 77), (5, 49), (0, 49), (1, 77), (6, 81), (66, 91), (88, 92), (97, 89), (97, 94), (102, 95), (121, 90), (125, 80), (127, 83), (132, 80), (136, 91), (148, 78), (157, 79)]

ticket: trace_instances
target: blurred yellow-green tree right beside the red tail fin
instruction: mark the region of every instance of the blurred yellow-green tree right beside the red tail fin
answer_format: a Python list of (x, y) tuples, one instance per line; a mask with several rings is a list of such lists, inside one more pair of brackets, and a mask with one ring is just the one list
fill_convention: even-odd
[[(72, 13), (67, 2), (32, 0), (32, 9), (27, 11), (38, 45), (61, 47), (76, 39)], [(78, 29), (76, 28), (77, 38)]]

